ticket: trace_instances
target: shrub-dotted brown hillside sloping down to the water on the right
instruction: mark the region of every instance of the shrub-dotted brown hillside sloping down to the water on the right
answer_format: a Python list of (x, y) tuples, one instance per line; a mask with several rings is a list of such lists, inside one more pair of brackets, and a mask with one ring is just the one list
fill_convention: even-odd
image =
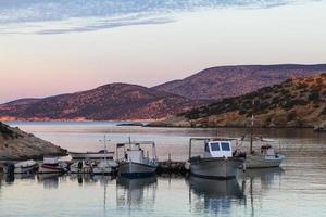
[(242, 97), (224, 99), (152, 126), (314, 127), (326, 120), (326, 74), (288, 79)]

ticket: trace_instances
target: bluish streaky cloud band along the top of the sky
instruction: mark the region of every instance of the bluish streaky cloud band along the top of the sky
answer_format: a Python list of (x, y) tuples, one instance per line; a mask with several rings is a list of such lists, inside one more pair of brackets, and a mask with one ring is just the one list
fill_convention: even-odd
[(290, 0), (0, 0), (0, 34), (65, 34), (175, 21), (180, 11), (271, 8)]

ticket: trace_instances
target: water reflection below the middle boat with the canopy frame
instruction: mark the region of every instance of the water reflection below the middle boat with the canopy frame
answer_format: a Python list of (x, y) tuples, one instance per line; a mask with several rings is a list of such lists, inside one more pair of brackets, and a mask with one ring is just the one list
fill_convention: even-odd
[(116, 204), (123, 206), (149, 206), (155, 203), (158, 178), (155, 176), (138, 179), (117, 177)]

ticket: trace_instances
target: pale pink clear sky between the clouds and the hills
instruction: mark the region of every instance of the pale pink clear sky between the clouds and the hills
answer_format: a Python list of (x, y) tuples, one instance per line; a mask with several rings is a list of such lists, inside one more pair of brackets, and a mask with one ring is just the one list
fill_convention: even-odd
[(177, 22), (0, 35), (0, 103), (109, 82), (154, 86), (218, 65), (325, 63), (326, 3), (177, 14)]

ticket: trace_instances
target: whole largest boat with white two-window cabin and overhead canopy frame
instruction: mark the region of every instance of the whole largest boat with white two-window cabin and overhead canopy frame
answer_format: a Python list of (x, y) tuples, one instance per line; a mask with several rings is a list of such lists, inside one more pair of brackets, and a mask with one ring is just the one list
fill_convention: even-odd
[[(204, 141), (203, 154), (191, 156), (193, 141)], [(238, 149), (233, 152), (231, 141), (238, 139), (190, 138), (189, 170), (204, 178), (227, 179), (236, 177), (239, 166), (244, 162)]]

